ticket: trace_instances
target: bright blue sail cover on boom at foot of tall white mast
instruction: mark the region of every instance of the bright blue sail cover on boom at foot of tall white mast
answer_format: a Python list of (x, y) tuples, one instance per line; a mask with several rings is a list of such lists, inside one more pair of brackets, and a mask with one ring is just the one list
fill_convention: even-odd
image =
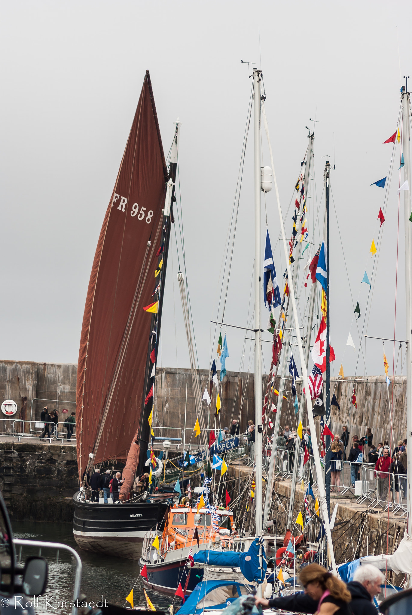
[(246, 553), (239, 551), (214, 551), (212, 549), (198, 551), (193, 555), (193, 560), (198, 564), (219, 566), (219, 568), (240, 568), (241, 573), (248, 581), (262, 583), (267, 563), (265, 561), (265, 549), (262, 547), (262, 571), (259, 571), (259, 541), (252, 542)]

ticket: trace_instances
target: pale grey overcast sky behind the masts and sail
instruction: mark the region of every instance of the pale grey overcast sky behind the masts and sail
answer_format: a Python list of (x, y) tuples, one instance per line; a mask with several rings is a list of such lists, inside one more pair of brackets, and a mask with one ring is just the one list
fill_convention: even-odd
[[(410, 71), (412, 77), (410, 2), (2, 1), (0, 8), (1, 359), (77, 362), (95, 247), (148, 68), (166, 153), (172, 122), (177, 117), (183, 122), (179, 173), (187, 277), (199, 364), (209, 367), (217, 342), (210, 321), (217, 317), (252, 85), (243, 59), (264, 73), (288, 236), (293, 212), (286, 212), (307, 147), (305, 125), (313, 127), (309, 117), (319, 121), (309, 186), (309, 233), (315, 244), (318, 211), (323, 218), (325, 156), (336, 165), (331, 343), (334, 372), (342, 362), (345, 375), (355, 373), (360, 337), (353, 307), (359, 300), (361, 333), (368, 287), (360, 282), (365, 269), (372, 274), (369, 250), (378, 238), (376, 218), (386, 192), (370, 184), (387, 175), (392, 145), (382, 141), (397, 125), (401, 76)], [(243, 327), (252, 309), (252, 144), (251, 125), (224, 321)], [(265, 137), (262, 150), (269, 164)], [(394, 336), (398, 146), (395, 156), (363, 331), (387, 338)], [(403, 198), (400, 205), (397, 339), (405, 336)], [(263, 206), (262, 199), (262, 234)], [(274, 190), (266, 207), (281, 279), (285, 259)], [(181, 260), (180, 245), (179, 250)], [(177, 271), (173, 240), (161, 363), (188, 367)], [(267, 322), (264, 307), (262, 322)], [(349, 331), (356, 352), (345, 346)], [(252, 351), (248, 342), (242, 362), (243, 332), (228, 328), (227, 339), (227, 369), (247, 369)], [(269, 368), (270, 344), (264, 346)], [(385, 349), (392, 371), (393, 344)], [(383, 373), (381, 341), (366, 343), (366, 367), (360, 355), (356, 370)]]

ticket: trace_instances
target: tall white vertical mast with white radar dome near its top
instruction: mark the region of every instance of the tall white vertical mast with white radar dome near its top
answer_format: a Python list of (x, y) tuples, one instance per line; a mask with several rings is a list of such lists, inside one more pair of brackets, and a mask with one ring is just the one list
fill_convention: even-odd
[[(255, 375), (254, 375), (254, 416), (256, 439), (256, 490), (255, 519), (256, 537), (262, 534), (262, 308), (261, 308), (261, 77), (262, 71), (253, 69), (254, 108), (254, 333), (255, 333)], [(262, 554), (259, 556), (262, 568)], [(257, 589), (262, 595), (262, 587)]]

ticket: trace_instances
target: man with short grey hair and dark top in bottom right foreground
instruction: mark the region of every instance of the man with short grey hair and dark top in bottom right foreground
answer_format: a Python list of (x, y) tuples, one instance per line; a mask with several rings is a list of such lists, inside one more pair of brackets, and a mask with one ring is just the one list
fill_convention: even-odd
[(363, 615), (378, 615), (378, 609), (373, 604), (373, 597), (381, 592), (381, 584), (385, 576), (375, 566), (366, 564), (359, 566), (353, 574), (353, 581), (347, 584), (352, 600), (349, 603), (353, 613)]

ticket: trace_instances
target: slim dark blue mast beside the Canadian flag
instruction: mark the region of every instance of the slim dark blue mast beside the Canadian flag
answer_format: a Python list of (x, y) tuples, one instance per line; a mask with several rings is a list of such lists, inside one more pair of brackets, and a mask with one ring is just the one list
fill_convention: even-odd
[[(326, 383), (325, 383), (325, 425), (331, 422), (331, 374), (330, 374), (330, 344), (329, 344), (329, 176), (331, 164), (327, 160), (325, 165), (325, 234), (326, 234)], [(329, 428), (330, 429), (330, 428)], [(331, 518), (331, 437), (326, 435), (325, 440), (325, 491), (328, 517)]]

